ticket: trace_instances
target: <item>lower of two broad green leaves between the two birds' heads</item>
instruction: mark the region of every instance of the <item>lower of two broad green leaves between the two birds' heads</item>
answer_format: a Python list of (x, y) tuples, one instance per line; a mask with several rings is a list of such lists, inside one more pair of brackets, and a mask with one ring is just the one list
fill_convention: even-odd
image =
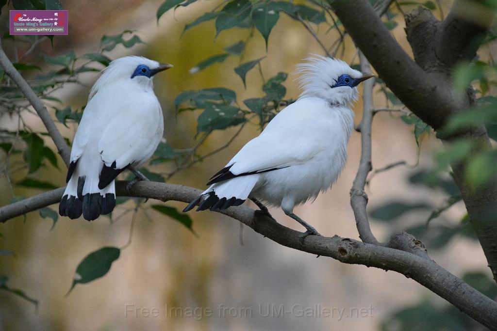
[(197, 133), (223, 130), (239, 125), (245, 119), (238, 116), (240, 109), (230, 105), (210, 105), (197, 119)]

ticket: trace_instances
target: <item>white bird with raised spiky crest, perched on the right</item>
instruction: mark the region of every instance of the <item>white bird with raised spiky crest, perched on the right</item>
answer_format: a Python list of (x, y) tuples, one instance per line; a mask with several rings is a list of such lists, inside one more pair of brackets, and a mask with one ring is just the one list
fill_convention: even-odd
[(303, 90), (298, 100), (279, 112), (183, 211), (197, 204), (197, 211), (222, 210), (247, 198), (256, 199), (262, 210), (267, 211), (257, 200), (281, 207), (305, 226), (302, 238), (319, 235), (293, 209), (316, 199), (337, 180), (354, 124), (349, 104), (357, 99), (356, 86), (374, 75), (354, 70), (341, 60), (321, 56), (306, 60), (297, 65)]

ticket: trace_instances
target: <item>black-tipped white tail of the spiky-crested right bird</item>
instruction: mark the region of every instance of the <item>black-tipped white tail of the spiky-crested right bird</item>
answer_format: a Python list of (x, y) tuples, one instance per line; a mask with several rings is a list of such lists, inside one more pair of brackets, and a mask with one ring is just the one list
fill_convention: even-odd
[(190, 202), (183, 209), (183, 212), (193, 209), (199, 204), (197, 211), (224, 210), (231, 206), (239, 206), (248, 198), (253, 187), (259, 180), (257, 174), (235, 177), (223, 182), (212, 184), (207, 190), (202, 192), (197, 198)]

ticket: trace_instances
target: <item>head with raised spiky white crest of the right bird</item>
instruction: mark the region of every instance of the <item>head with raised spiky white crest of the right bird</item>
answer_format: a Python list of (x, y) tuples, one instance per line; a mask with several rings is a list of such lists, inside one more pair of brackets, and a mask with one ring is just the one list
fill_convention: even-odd
[(319, 55), (306, 58), (308, 62), (297, 65), (296, 73), (302, 88), (300, 97), (318, 97), (331, 104), (345, 105), (357, 100), (357, 85), (368, 78), (371, 73), (352, 69), (338, 59)]

